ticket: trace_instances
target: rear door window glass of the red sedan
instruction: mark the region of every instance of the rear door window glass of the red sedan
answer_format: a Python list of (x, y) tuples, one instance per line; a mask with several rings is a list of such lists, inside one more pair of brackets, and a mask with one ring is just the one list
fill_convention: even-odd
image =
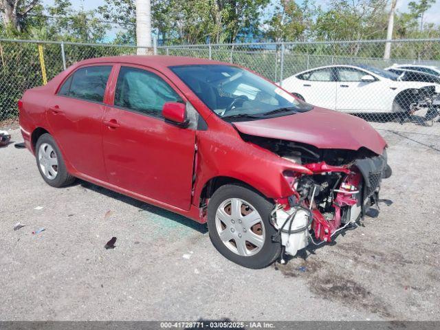
[(65, 81), (58, 95), (102, 102), (110, 72), (111, 65), (82, 67)]

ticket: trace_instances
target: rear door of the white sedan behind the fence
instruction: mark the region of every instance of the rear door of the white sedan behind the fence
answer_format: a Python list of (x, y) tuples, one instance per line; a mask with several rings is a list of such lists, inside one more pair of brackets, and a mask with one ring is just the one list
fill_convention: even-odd
[(300, 81), (294, 92), (318, 107), (336, 109), (336, 81), (332, 67), (311, 70), (296, 76)]

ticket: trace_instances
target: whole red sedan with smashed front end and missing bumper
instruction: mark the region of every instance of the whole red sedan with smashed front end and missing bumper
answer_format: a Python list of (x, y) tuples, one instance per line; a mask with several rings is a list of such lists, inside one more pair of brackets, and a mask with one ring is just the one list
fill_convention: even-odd
[(207, 222), (215, 248), (250, 268), (355, 226), (391, 175), (364, 120), (198, 58), (81, 61), (19, 111), (47, 184), (80, 178)]

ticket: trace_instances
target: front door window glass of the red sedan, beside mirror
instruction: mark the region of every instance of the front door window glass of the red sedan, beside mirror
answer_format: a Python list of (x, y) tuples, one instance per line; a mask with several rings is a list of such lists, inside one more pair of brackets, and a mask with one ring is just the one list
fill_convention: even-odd
[(115, 106), (162, 116), (166, 102), (182, 102), (162, 78), (135, 67), (121, 67), (115, 91)]

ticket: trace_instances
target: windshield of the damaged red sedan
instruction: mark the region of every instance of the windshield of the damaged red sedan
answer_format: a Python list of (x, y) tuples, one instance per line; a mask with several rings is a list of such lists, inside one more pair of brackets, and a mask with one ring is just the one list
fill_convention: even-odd
[(170, 69), (225, 120), (270, 118), (312, 109), (283, 89), (239, 67), (182, 65)]

